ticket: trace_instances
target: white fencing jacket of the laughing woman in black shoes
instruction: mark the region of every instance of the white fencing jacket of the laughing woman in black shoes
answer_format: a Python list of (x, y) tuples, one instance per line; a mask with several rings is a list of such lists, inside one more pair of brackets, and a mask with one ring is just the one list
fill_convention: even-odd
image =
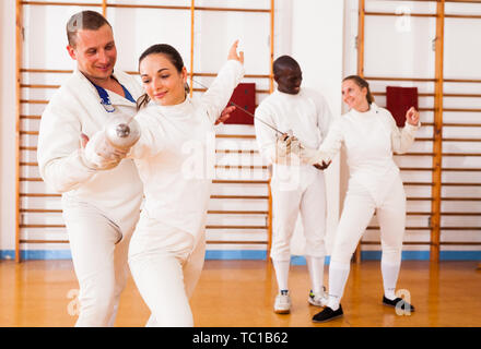
[(366, 112), (351, 109), (336, 118), (319, 151), (321, 159), (331, 160), (345, 146), (350, 169), (350, 185), (365, 186), (376, 203), (388, 194), (399, 168), (392, 152), (406, 153), (414, 142), (420, 124), (406, 123), (402, 131), (391, 113), (374, 103)]

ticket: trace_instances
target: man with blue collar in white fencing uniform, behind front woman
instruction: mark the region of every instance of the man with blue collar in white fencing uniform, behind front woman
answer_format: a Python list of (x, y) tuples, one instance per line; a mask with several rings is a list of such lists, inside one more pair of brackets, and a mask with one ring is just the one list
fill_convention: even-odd
[(45, 182), (62, 193), (80, 285), (75, 325), (108, 326), (114, 324), (128, 276), (128, 243), (139, 218), (142, 183), (133, 160), (105, 169), (120, 157), (94, 135), (115, 115), (134, 116), (142, 89), (132, 76), (114, 72), (114, 35), (99, 13), (74, 14), (67, 34), (77, 69), (42, 116), (38, 166)]

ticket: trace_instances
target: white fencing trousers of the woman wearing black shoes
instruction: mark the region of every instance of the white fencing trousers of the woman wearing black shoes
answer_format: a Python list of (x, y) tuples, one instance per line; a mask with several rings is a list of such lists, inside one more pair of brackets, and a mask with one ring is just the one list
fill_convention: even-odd
[(375, 210), (380, 227), (383, 262), (390, 265), (401, 263), (406, 227), (406, 193), (399, 176), (379, 204), (375, 203), (364, 186), (350, 183), (335, 238), (331, 261), (339, 263), (351, 261)]

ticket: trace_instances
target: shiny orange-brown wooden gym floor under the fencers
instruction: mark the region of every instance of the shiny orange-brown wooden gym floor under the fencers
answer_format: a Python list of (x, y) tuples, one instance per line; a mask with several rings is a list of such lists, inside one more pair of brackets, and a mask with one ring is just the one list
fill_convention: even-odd
[[(326, 272), (327, 282), (327, 272)], [(383, 306), (379, 262), (352, 265), (342, 306), (344, 316), (314, 324), (308, 274), (292, 266), (292, 313), (272, 312), (277, 293), (271, 265), (262, 261), (207, 261), (191, 300), (202, 327), (438, 327), (481, 326), (481, 270), (477, 262), (403, 262), (398, 288), (410, 292), (417, 312), (399, 316)], [(0, 326), (72, 326), (78, 284), (70, 261), (0, 262)], [(132, 279), (122, 293), (116, 326), (143, 326), (149, 310)]]

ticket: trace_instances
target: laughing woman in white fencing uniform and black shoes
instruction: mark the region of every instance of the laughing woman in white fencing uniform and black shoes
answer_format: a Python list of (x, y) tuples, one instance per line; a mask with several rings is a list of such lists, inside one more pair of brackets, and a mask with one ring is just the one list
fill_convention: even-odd
[(305, 148), (301, 156), (310, 164), (330, 161), (344, 145), (350, 170), (349, 188), (337, 229), (329, 265), (329, 300), (313, 317), (326, 322), (343, 314), (340, 300), (350, 272), (355, 248), (376, 212), (380, 226), (384, 282), (383, 303), (406, 311), (414, 306), (396, 298), (396, 284), (401, 265), (406, 226), (406, 194), (392, 152), (406, 153), (419, 129), (419, 112), (406, 113), (400, 131), (386, 109), (374, 103), (368, 84), (357, 75), (342, 82), (342, 98), (351, 110), (337, 118), (318, 149)]

